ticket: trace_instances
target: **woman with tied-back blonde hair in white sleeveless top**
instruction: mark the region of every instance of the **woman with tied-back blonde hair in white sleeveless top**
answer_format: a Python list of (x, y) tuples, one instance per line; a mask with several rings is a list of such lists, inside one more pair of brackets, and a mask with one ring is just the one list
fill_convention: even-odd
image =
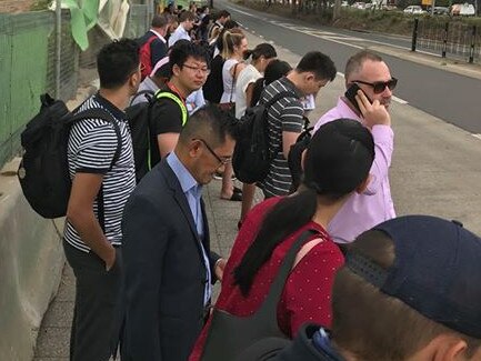
[[(243, 54), (248, 49), (248, 41), (241, 29), (233, 28), (223, 33), (222, 43), (221, 56), (226, 62), (222, 67), (223, 93), (220, 103), (236, 102), (236, 79), (245, 68)], [(232, 174), (232, 164), (226, 164), (220, 198), (230, 201), (241, 201), (242, 193), (238, 189), (234, 191)]]

